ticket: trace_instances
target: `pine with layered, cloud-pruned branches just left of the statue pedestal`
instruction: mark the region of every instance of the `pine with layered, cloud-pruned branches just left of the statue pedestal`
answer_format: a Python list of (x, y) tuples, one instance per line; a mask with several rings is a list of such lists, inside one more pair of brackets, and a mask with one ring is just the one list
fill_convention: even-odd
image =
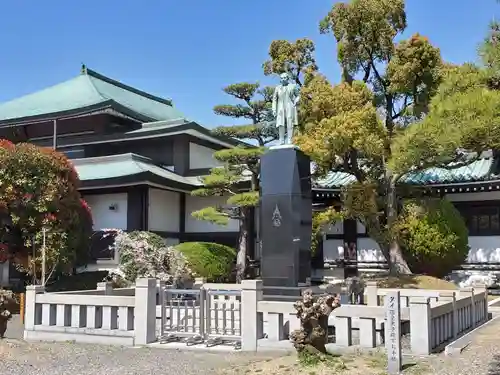
[(216, 114), (234, 119), (245, 119), (246, 125), (221, 126), (213, 130), (217, 135), (253, 141), (255, 147), (241, 146), (221, 150), (214, 157), (221, 167), (213, 168), (203, 178), (204, 188), (192, 192), (195, 196), (228, 197), (224, 205), (210, 206), (195, 211), (192, 215), (218, 225), (227, 225), (229, 219), (239, 221), (236, 279), (247, 275), (247, 260), (253, 257), (255, 246), (255, 207), (259, 203), (260, 156), (265, 146), (277, 139), (272, 120), (272, 87), (261, 87), (258, 83), (236, 83), (224, 88), (224, 92), (238, 99), (240, 104), (225, 104), (214, 107)]

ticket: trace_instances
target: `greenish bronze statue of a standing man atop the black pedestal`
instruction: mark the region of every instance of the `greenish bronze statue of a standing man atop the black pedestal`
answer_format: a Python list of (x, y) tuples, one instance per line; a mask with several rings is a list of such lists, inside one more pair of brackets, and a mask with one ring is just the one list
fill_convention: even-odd
[(280, 85), (274, 89), (273, 115), (279, 131), (281, 145), (292, 144), (293, 130), (298, 125), (297, 104), (300, 88), (288, 73), (280, 75)]

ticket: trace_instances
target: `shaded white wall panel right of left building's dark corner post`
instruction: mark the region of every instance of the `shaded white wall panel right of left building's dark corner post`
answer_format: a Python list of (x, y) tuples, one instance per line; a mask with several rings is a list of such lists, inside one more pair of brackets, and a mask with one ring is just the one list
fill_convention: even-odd
[(148, 205), (149, 230), (179, 232), (179, 193), (150, 188)]

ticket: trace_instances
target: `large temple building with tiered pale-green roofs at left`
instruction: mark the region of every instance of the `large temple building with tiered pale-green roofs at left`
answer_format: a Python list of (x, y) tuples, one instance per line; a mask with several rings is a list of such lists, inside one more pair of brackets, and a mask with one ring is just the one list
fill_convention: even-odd
[[(97, 232), (149, 230), (167, 244), (236, 244), (237, 222), (216, 226), (191, 216), (225, 200), (190, 192), (200, 186), (200, 176), (219, 165), (213, 153), (240, 142), (212, 135), (169, 99), (83, 66), (68, 81), (0, 104), (0, 138), (54, 147), (70, 158)], [(86, 269), (114, 268), (115, 254), (101, 236), (94, 237), (94, 261)], [(4, 283), (8, 268), (0, 265)]]

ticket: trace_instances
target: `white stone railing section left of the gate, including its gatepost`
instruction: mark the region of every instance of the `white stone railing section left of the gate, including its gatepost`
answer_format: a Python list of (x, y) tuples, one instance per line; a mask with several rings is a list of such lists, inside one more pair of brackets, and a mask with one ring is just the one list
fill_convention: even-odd
[(155, 341), (156, 280), (140, 279), (134, 296), (98, 290), (45, 293), (28, 286), (24, 338), (111, 345), (141, 345)]

